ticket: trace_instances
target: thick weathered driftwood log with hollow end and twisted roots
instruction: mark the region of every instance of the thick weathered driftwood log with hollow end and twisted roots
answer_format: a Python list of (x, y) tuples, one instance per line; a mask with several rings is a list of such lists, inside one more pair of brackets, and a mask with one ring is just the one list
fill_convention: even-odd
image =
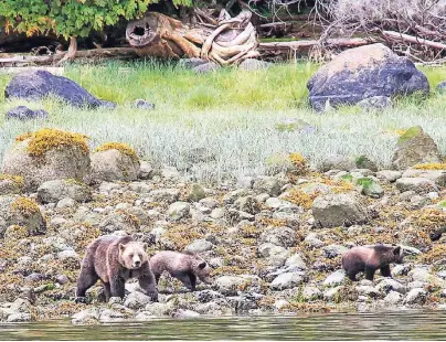
[(126, 38), (140, 56), (201, 57), (221, 65), (237, 64), (259, 55), (252, 13), (231, 18), (222, 10), (217, 19), (195, 10), (198, 20), (188, 25), (158, 12), (127, 25)]

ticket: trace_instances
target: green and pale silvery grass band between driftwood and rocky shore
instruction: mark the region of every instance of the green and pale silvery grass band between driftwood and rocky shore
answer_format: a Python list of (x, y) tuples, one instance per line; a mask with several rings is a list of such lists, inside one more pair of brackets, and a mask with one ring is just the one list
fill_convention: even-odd
[[(67, 77), (119, 107), (82, 110), (46, 99), (28, 105), (44, 107), (51, 116), (47, 121), (4, 121), (8, 109), (26, 103), (6, 101), (0, 90), (0, 159), (15, 136), (43, 126), (85, 133), (92, 147), (127, 142), (140, 157), (174, 165), (200, 180), (263, 173), (265, 160), (280, 152), (300, 152), (314, 165), (330, 153), (364, 153), (386, 167), (399, 133), (414, 125), (421, 125), (446, 153), (446, 97), (433, 93), (427, 100), (404, 99), (385, 110), (351, 107), (319, 115), (309, 109), (306, 88), (316, 70), (314, 64), (293, 64), (195, 75), (153, 63), (72, 66)], [(424, 72), (433, 87), (446, 79), (446, 68)], [(0, 89), (10, 78), (0, 75)], [(131, 108), (137, 98), (155, 103), (156, 110)], [(289, 119), (302, 119), (316, 130), (277, 128)], [(194, 164), (194, 149), (204, 149), (213, 158)]]

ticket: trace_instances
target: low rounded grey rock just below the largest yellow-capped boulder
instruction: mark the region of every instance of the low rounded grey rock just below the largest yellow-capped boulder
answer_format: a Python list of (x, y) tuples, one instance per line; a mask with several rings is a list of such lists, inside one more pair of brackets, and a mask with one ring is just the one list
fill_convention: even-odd
[(38, 200), (42, 203), (57, 202), (65, 197), (76, 202), (87, 202), (92, 200), (92, 190), (75, 180), (47, 181), (38, 189)]

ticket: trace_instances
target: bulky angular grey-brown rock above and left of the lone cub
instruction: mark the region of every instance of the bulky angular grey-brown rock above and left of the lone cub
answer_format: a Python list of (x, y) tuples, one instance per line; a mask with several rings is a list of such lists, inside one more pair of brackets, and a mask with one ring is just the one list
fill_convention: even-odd
[(330, 228), (368, 222), (368, 213), (355, 194), (319, 195), (312, 203), (312, 215), (318, 226)]

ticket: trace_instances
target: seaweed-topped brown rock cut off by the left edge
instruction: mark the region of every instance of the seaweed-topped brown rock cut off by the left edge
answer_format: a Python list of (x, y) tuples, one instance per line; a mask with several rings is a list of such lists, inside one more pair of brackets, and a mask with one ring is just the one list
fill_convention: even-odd
[(0, 218), (3, 222), (0, 222), (0, 237), (9, 226), (13, 226), (14, 232), (22, 237), (46, 232), (46, 223), (38, 204), (26, 197), (0, 195)]

